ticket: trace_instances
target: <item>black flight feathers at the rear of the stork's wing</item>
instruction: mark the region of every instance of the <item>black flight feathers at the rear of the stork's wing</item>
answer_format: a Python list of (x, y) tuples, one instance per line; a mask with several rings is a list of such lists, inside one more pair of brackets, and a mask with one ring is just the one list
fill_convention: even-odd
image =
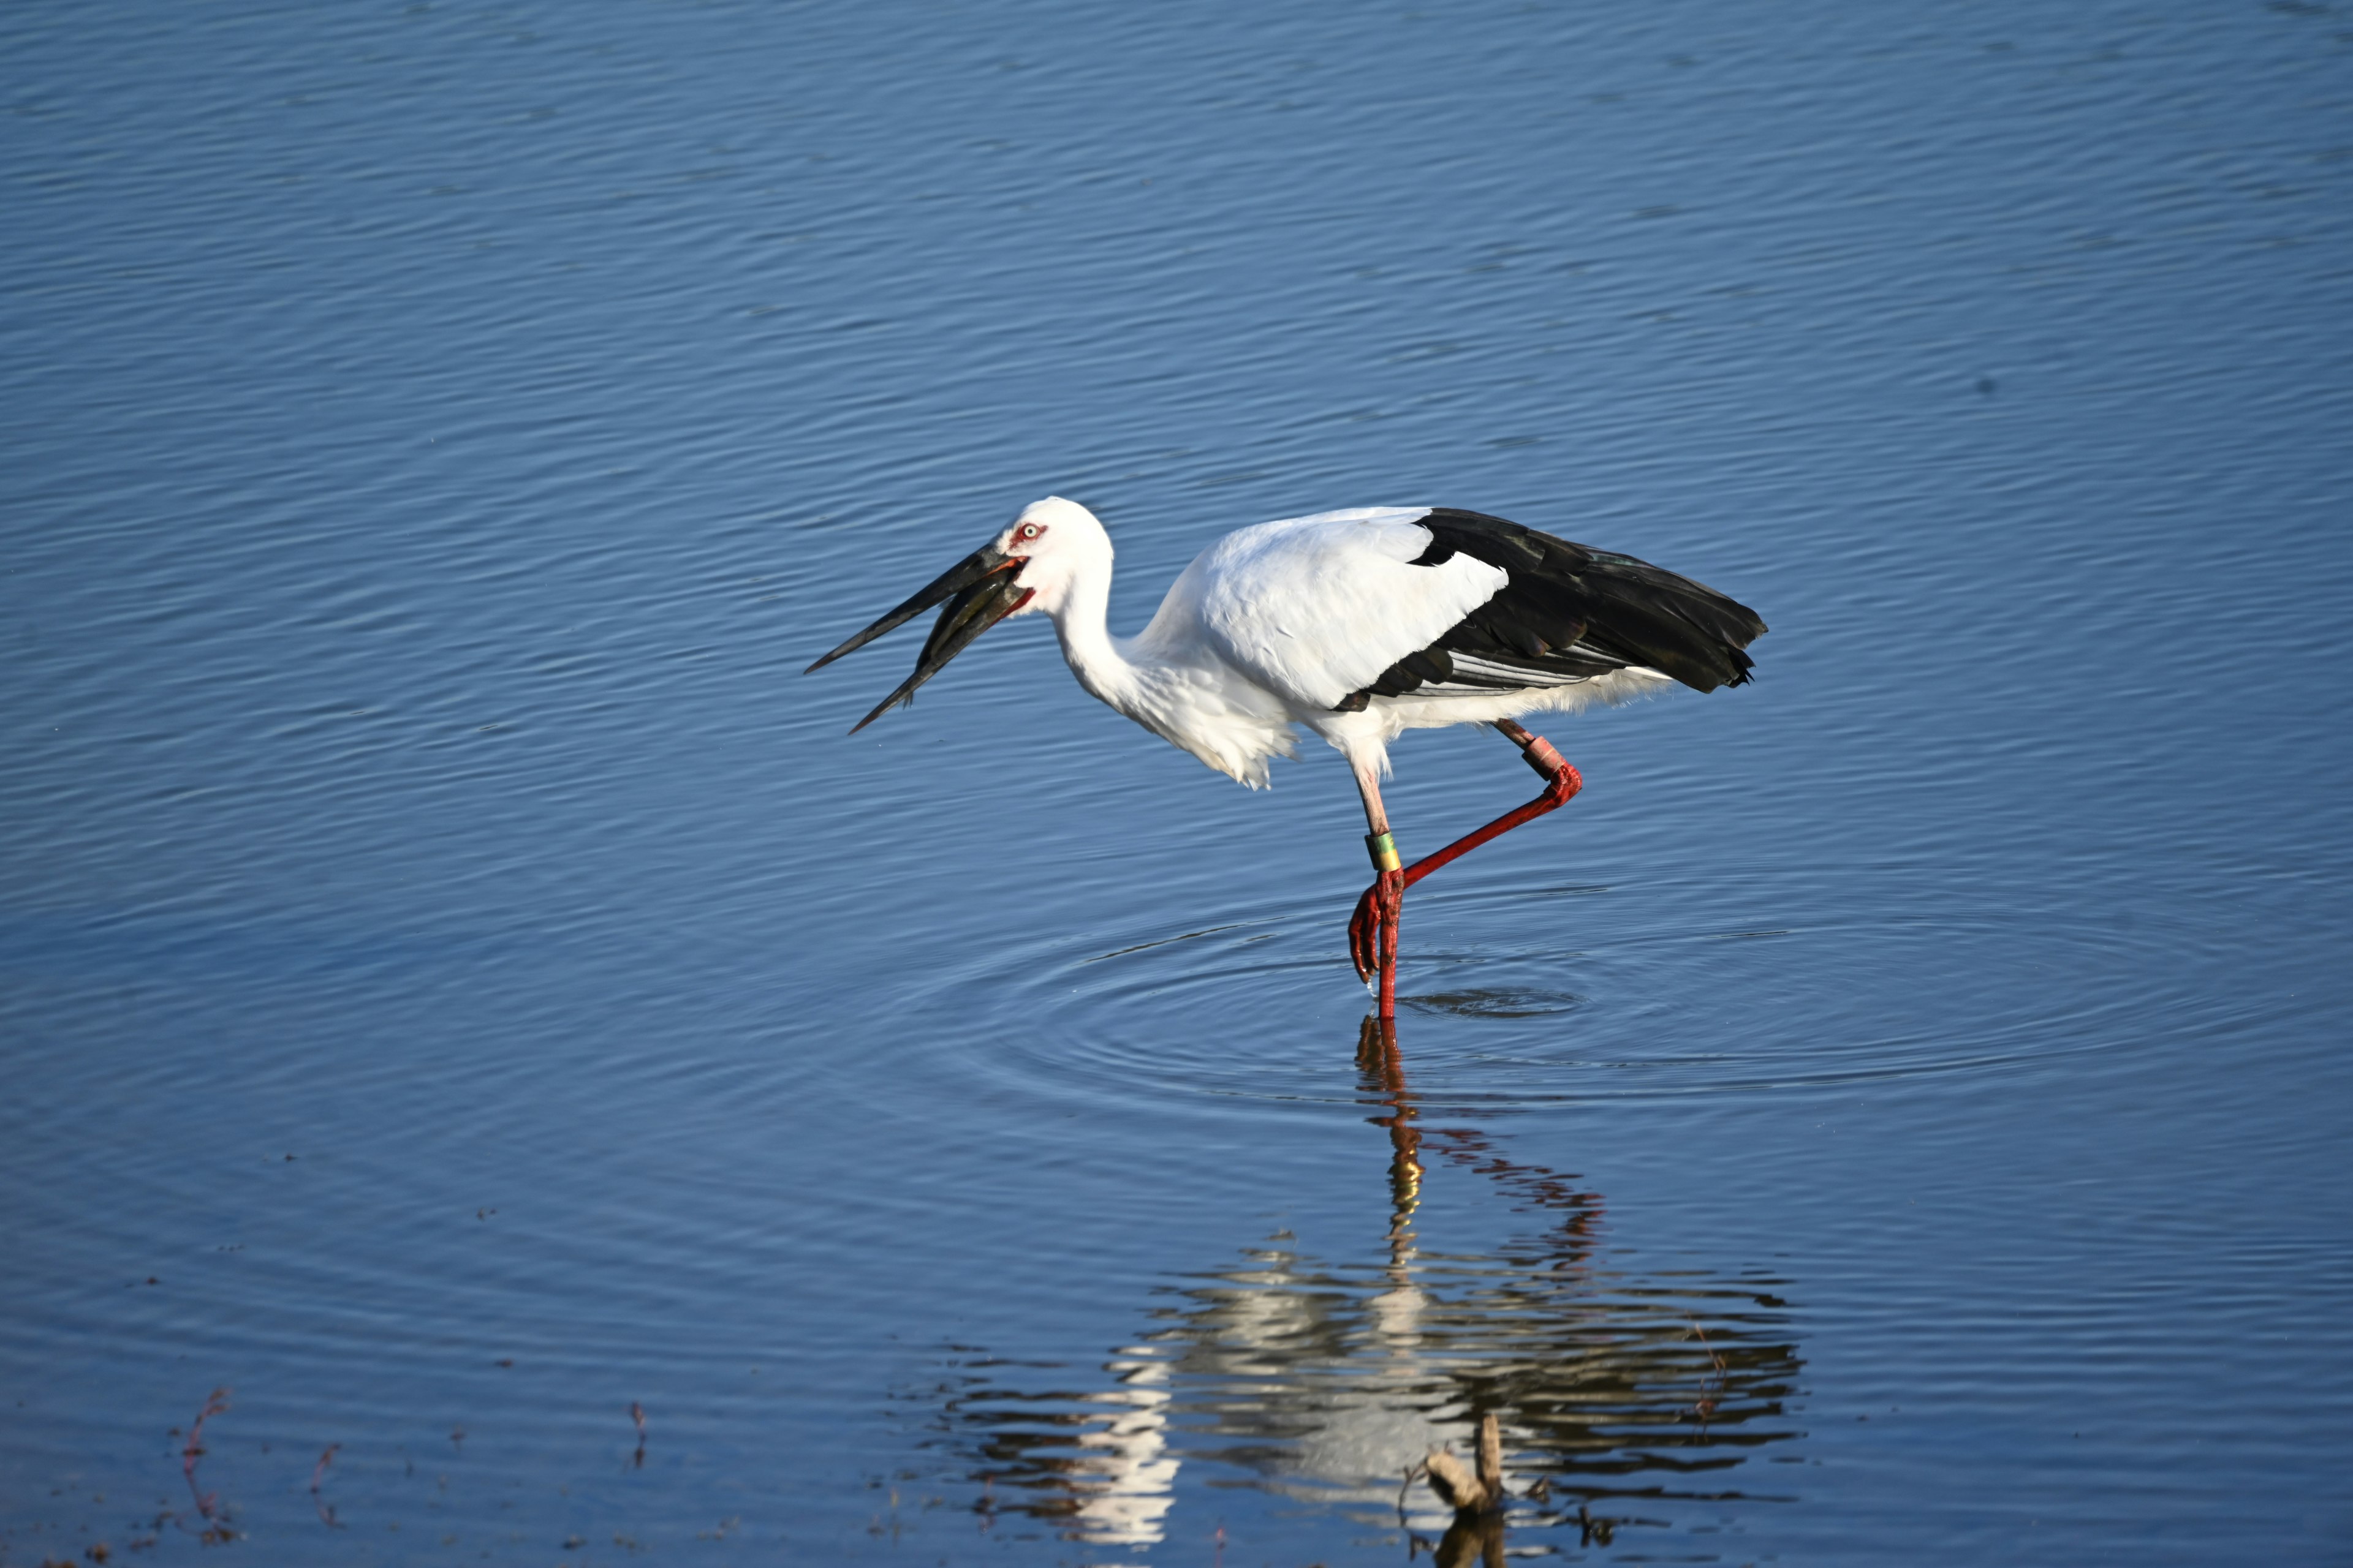
[(1765, 621), (1704, 583), (1487, 512), (1438, 508), (1417, 522), (1431, 531), (1417, 567), (1471, 555), (1501, 567), (1511, 581), (1341, 708), (1405, 696), (1424, 682), (1553, 686), (1626, 665), (1647, 665), (1694, 691), (1748, 682), (1753, 661), (1744, 649), (1765, 635)]

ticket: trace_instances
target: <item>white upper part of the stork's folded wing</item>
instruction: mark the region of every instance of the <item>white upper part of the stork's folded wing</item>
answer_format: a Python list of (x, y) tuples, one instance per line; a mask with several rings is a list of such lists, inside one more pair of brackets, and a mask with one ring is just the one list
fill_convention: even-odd
[[(1435, 545), (1421, 505), (1318, 512), (1238, 529), (1186, 567), (1144, 637), (1198, 625), (1209, 651), (1301, 708), (1337, 708), (1428, 646), (1506, 583), (1504, 569)], [(1176, 649), (1169, 649), (1176, 651)]]

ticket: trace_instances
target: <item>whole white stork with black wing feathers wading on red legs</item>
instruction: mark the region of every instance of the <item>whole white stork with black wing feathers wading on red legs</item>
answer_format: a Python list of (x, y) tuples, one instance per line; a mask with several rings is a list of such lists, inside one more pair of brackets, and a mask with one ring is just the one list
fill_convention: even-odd
[[(1144, 632), (1113, 637), (1111, 536), (1087, 508), (1047, 496), (809, 670), (941, 599), (915, 672), (849, 733), (913, 698), (998, 621), (1042, 611), (1080, 686), (1252, 790), (1266, 788), (1273, 757), (1294, 752), (1301, 726), (1339, 748), (1365, 797), (1374, 865), (1348, 957), (1358, 978), (1379, 976), (1381, 1018), (1395, 1013), (1405, 889), (1584, 788), (1515, 719), (1671, 682), (1739, 686), (1751, 665), (1741, 649), (1765, 635), (1753, 609), (1631, 555), (1485, 512), (1374, 505), (1226, 534), (1184, 569)], [(1388, 743), (1440, 724), (1504, 731), (1544, 776), (1544, 795), (1400, 865), (1381, 809)]]

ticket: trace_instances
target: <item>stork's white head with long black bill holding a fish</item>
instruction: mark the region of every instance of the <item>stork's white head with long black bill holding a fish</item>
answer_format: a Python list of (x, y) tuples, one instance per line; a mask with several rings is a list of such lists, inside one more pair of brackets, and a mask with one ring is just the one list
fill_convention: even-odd
[(842, 654), (866, 646), (946, 599), (946, 609), (939, 611), (939, 621), (932, 623), (932, 635), (915, 658), (915, 672), (849, 729), (854, 736), (894, 703), (911, 701), (915, 686), (946, 670), (948, 661), (972, 646), (991, 625), (1033, 609), (1056, 614), (1071, 599), (1073, 588), (1096, 574), (1101, 578), (1111, 574), (1111, 536), (1104, 534), (1094, 512), (1061, 496), (1031, 501), (1002, 534), (941, 571), (915, 597), (819, 658), (809, 670), (831, 665)]

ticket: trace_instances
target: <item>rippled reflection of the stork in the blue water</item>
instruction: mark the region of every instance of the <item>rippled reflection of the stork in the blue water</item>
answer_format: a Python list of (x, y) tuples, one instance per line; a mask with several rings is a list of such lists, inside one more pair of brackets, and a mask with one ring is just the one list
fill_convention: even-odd
[[(1405, 1495), (1407, 1544), (1438, 1542), (1447, 1563), (1501, 1552), (1504, 1528), (1598, 1544), (1699, 1502), (1762, 1502), (1706, 1479), (1793, 1436), (1779, 1418), (1798, 1356), (1777, 1281), (1617, 1262), (1600, 1194), (1426, 1105), (1377, 1018), (1358, 1037), (1358, 1095), (1386, 1143), (1388, 1218), (1369, 1258), (1315, 1258), (1287, 1232), (1247, 1248), (1238, 1267), (1184, 1279), (1096, 1361), (1092, 1389), (1068, 1368), (1026, 1387), (986, 1354), (948, 1368), (951, 1441), (988, 1514), (1144, 1547), (1169, 1537), (1184, 1469), (1209, 1465), (1207, 1486), (1242, 1469), (1294, 1502), (1398, 1526), (1407, 1472), (1435, 1446), (1466, 1450), (1487, 1413), (1508, 1509), (1449, 1523), (1419, 1481)], [(1426, 1192), (1449, 1173), (1480, 1178), (1449, 1187), (1449, 1225), (1464, 1192), (1541, 1225), (1515, 1220), (1485, 1251), (1426, 1246)]]

